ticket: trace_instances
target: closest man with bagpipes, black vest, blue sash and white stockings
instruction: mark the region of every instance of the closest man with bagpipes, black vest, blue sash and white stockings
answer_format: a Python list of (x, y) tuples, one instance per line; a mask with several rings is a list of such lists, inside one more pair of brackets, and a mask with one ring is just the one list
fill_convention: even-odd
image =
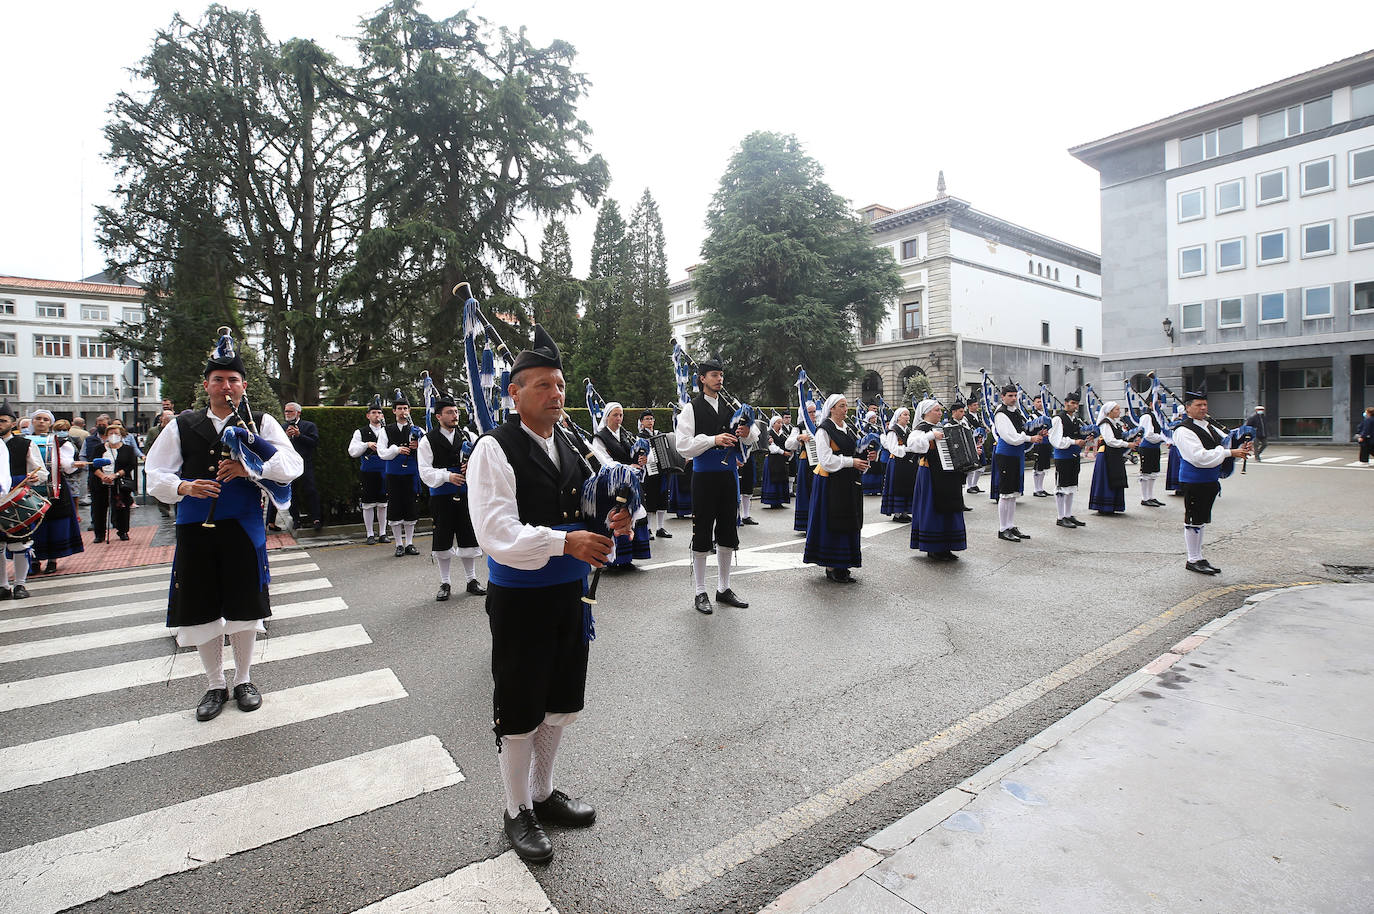
[[(515, 412), (482, 436), (467, 465), (477, 540), (488, 555), (486, 614), (492, 631), (493, 719), (506, 836), (525, 860), (554, 848), (543, 825), (589, 826), (596, 811), (554, 789), (563, 728), (583, 709), (589, 606), (587, 573), (611, 553), (611, 539), (587, 529), (581, 511), (589, 465), (555, 423), (563, 415), (562, 360), (534, 326), (533, 346), (511, 366)], [(606, 518), (629, 532), (629, 514)]]

